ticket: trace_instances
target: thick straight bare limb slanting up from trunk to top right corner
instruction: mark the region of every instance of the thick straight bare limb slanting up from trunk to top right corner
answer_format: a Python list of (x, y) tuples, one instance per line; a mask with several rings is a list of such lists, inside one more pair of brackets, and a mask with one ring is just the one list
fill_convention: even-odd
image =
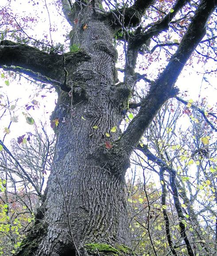
[(129, 154), (132, 152), (133, 147), (136, 147), (144, 131), (164, 102), (170, 97), (174, 97), (178, 92), (174, 88), (175, 81), (190, 55), (204, 37), (206, 23), (209, 20), (209, 16), (215, 10), (216, 5), (217, 0), (211, 2), (202, 0), (178, 50), (172, 56), (166, 69), (160, 74), (155, 83), (151, 85), (149, 93), (141, 104), (139, 113), (131, 121), (120, 138), (118, 144), (123, 151), (128, 151)]

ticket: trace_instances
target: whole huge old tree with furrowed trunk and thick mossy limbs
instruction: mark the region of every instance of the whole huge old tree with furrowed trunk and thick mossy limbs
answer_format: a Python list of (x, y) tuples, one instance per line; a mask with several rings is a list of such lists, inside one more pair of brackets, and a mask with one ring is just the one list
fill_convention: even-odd
[[(163, 9), (161, 2), (62, 0), (72, 26), (68, 53), (52, 47), (48, 54), (8, 40), (0, 43), (0, 65), (5, 70), (50, 83), (58, 92), (51, 116), (57, 137), (53, 165), (35, 227), (19, 256), (133, 254), (124, 191), (130, 155), (162, 105), (178, 93), (175, 82), (198, 44), (208, 42), (215, 53), (215, 36), (202, 39), (216, 0), (165, 1)], [(146, 24), (145, 14), (153, 23)], [(166, 43), (158, 39), (170, 26), (181, 29), (180, 43), (170, 42), (169, 37)], [(124, 40), (125, 66), (119, 69), (124, 80), (119, 83), (114, 38)], [(157, 42), (152, 52), (178, 46), (154, 81), (135, 72), (139, 53), (146, 55), (152, 42)], [(149, 83), (147, 93), (131, 105), (141, 79)], [(122, 133), (120, 122), (129, 107), (140, 109)], [(184, 232), (182, 238), (187, 241)], [(194, 256), (190, 243), (186, 244), (188, 254)]]

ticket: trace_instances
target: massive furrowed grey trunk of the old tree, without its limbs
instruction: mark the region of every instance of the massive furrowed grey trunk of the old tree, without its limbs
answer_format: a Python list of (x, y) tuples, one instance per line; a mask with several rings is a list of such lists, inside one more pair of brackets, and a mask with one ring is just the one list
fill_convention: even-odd
[[(53, 168), (37, 216), (41, 218), (38, 225), (46, 227), (37, 249), (31, 252), (37, 256), (90, 255), (97, 250), (101, 255), (113, 255), (118, 248), (116, 254), (120, 254), (120, 244), (130, 245), (124, 177), (117, 175), (120, 170), (111, 170), (103, 157), (103, 151), (108, 151), (105, 141), (120, 136), (118, 129), (113, 133), (110, 129), (118, 127), (123, 118), (122, 106), (111, 99), (117, 52), (109, 26), (93, 19), (92, 12), (85, 13), (85, 20), (79, 20), (70, 35), (71, 45), (81, 48), (88, 58), (78, 59), (78, 65), (66, 58), (71, 91), (59, 92), (51, 116), (51, 123), (58, 119), (59, 124), (54, 128)], [(104, 248), (105, 244), (111, 247)], [(19, 255), (30, 255), (27, 250)]]

